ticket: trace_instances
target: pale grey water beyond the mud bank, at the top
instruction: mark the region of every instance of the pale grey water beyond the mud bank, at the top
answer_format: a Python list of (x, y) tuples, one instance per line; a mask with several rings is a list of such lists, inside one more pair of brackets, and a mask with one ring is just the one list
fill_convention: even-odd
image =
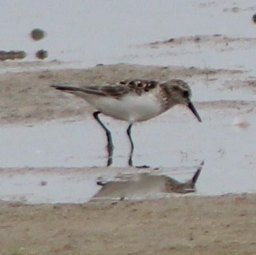
[[(254, 0), (45, 0), (43, 5), (40, 0), (13, 0), (1, 5), (0, 16), (5, 22), (0, 40), (2, 49), (26, 51), (26, 61), (36, 60), (36, 51), (45, 49), (49, 51), (49, 60), (66, 62), (56, 64), (55, 68), (127, 62), (236, 68), (256, 75), (255, 42), (234, 42), (228, 46), (191, 43), (157, 50), (142, 46), (170, 38), (216, 33), (231, 38), (255, 38), (255, 12)], [(29, 37), (35, 27), (47, 31), (47, 36), (38, 42)]]

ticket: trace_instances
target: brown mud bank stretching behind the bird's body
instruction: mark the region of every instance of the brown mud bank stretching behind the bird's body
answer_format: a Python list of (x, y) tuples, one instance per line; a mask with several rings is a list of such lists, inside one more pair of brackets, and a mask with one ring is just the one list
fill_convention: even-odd
[[(209, 70), (198, 68), (180, 68), (175, 66), (139, 66), (116, 64), (111, 66), (96, 66), (86, 70), (44, 70), (37, 72), (8, 72), (0, 77), (0, 124), (18, 124), (45, 122), (57, 119), (85, 120), (87, 113), (92, 112), (90, 106), (79, 98), (57, 92), (50, 86), (67, 83), (86, 86), (91, 84), (116, 83), (122, 79), (167, 79), (190, 80), (204, 79), (214, 81), (223, 75), (240, 75), (240, 70)], [(238, 79), (239, 81), (239, 79)], [(245, 81), (243, 81), (245, 83)], [(244, 84), (250, 86), (250, 80)], [(254, 85), (251, 85), (254, 89)], [(203, 99), (203, 98), (201, 98)], [(195, 102), (196, 106), (214, 108), (218, 105), (227, 107), (255, 107), (255, 102), (244, 101), (209, 101)], [(223, 105), (225, 104), (225, 105)]]

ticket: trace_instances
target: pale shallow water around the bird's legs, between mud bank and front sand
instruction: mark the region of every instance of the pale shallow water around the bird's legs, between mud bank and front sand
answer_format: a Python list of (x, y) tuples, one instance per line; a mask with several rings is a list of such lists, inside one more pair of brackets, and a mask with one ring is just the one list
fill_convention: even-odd
[[(256, 148), (252, 141), (256, 135), (254, 113), (242, 116), (227, 113), (223, 118), (223, 113), (216, 110), (207, 118), (206, 111), (201, 110), (203, 122), (199, 123), (186, 109), (182, 116), (177, 116), (178, 111), (183, 109), (173, 109), (163, 116), (133, 127), (132, 136), (136, 146), (133, 163), (160, 167), (163, 174), (170, 176), (173, 174), (172, 167), (189, 167), (186, 170), (188, 172), (185, 172), (188, 175), (184, 176), (182, 170), (178, 171), (178, 177), (183, 175), (185, 180), (192, 176), (195, 165), (205, 161), (196, 183), (199, 195), (255, 192)], [(0, 198), (3, 198), (5, 189), (12, 189), (12, 186), (18, 192), (18, 183), (21, 183), (21, 190), (28, 187), (33, 190), (30, 185), (40, 187), (39, 183), (45, 176), (47, 182), (54, 183), (49, 189), (60, 191), (60, 194), (51, 193), (48, 200), (56, 201), (60, 197), (61, 201), (66, 201), (68, 197), (68, 201), (73, 202), (80, 201), (81, 197), (88, 199), (99, 190), (96, 185), (99, 176), (111, 180), (112, 171), (117, 174), (126, 169), (122, 167), (127, 167), (127, 125), (125, 122), (110, 120), (103, 117), (103, 121), (109, 122), (114, 138), (113, 170), (112, 167), (107, 170), (104, 167), (107, 161), (105, 134), (92, 118), (86, 122), (1, 126), (1, 167), (82, 167), (84, 170), (78, 171), (79, 174), (76, 170), (74, 173), (68, 171), (66, 175), (65, 170), (51, 173), (49, 168), (46, 174), (44, 170), (38, 170), (31, 172), (34, 174), (28, 172), (12, 178), (1, 176)], [(90, 170), (93, 166), (99, 169)]]

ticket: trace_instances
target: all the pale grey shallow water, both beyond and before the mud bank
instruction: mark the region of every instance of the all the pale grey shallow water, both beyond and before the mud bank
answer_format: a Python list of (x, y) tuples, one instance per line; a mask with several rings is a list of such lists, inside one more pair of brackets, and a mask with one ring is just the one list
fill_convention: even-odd
[[(42, 5), (40, 0), (5, 1), (0, 8), (4, 21), (1, 48), (24, 50), (25, 61), (29, 62), (36, 60), (36, 51), (45, 49), (49, 51), (47, 61), (62, 62), (44, 61), (25, 66), (4, 62), (0, 63), (0, 72), (87, 68), (117, 62), (238, 69), (247, 72), (222, 74), (214, 77), (218, 78), (216, 81), (211, 80), (211, 75), (201, 79), (191, 77), (193, 100), (255, 101), (255, 92), (240, 84), (240, 81), (255, 80), (256, 76), (255, 23), (251, 21), (256, 12), (255, 0), (160, 2), (45, 0)], [(38, 42), (31, 40), (29, 33), (35, 27), (47, 31), (47, 37)], [(253, 40), (149, 47), (151, 42), (170, 38), (216, 33)], [(223, 106), (221, 109), (215, 105), (201, 107), (199, 113), (203, 123), (197, 122), (187, 110), (175, 107), (159, 118), (135, 125), (134, 163), (167, 167), (161, 168), (163, 174), (186, 180), (194, 173), (194, 165), (205, 161), (196, 184), (199, 195), (255, 192), (253, 108)], [(103, 120), (109, 124), (115, 144), (114, 167), (107, 171), (103, 167), (107, 161), (105, 135), (92, 118), (85, 122), (1, 126), (0, 166), (44, 169), (1, 170), (0, 199), (32, 203), (86, 202), (99, 190), (96, 185), (99, 176), (112, 179), (120, 171), (131, 171), (123, 168), (129, 155), (127, 124), (110, 118)], [(90, 169), (95, 165), (99, 168)], [(185, 172), (172, 169), (182, 166), (189, 168)], [(82, 168), (65, 170), (63, 167)]]

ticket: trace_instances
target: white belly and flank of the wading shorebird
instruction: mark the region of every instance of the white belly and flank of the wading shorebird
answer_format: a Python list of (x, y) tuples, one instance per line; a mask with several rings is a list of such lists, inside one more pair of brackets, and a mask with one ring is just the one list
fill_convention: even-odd
[(99, 109), (107, 116), (128, 122), (149, 120), (164, 110), (153, 94), (146, 93), (141, 96), (127, 94), (120, 100), (105, 96), (83, 96), (88, 103)]

